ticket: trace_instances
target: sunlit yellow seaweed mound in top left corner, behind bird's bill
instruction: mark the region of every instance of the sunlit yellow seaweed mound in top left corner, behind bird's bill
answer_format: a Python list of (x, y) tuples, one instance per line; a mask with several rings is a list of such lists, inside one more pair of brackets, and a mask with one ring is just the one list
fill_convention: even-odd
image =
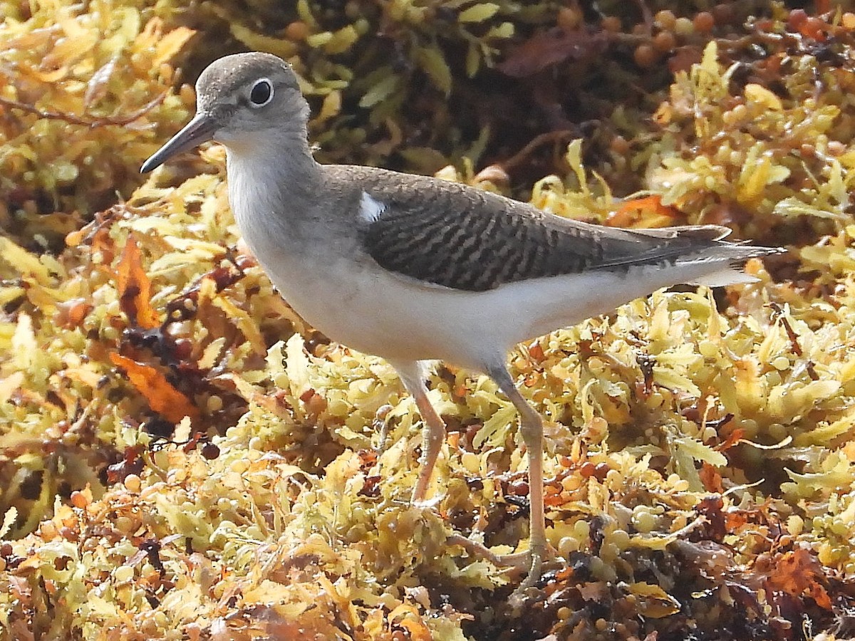
[(3, 5), (0, 226), (32, 247), (56, 250), (139, 185), (155, 137), (186, 120), (192, 96), (170, 91), (170, 63), (193, 32), (143, 4)]

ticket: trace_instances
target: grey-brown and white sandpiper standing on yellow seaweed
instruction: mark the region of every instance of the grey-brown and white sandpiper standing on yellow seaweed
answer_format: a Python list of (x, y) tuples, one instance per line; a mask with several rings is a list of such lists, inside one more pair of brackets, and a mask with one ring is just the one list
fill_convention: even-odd
[(662, 287), (751, 282), (745, 262), (778, 251), (728, 243), (722, 226), (606, 228), (467, 185), (321, 165), (297, 76), (269, 54), (213, 62), (196, 92), (196, 116), (141, 171), (207, 140), (225, 145), (235, 219), (281, 295), (329, 338), (385, 358), (414, 397), (424, 436), (414, 502), (445, 439), (428, 362), (486, 373), (516, 406), (531, 498), (522, 585), (540, 578), (547, 553), (543, 425), (508, 352)]

